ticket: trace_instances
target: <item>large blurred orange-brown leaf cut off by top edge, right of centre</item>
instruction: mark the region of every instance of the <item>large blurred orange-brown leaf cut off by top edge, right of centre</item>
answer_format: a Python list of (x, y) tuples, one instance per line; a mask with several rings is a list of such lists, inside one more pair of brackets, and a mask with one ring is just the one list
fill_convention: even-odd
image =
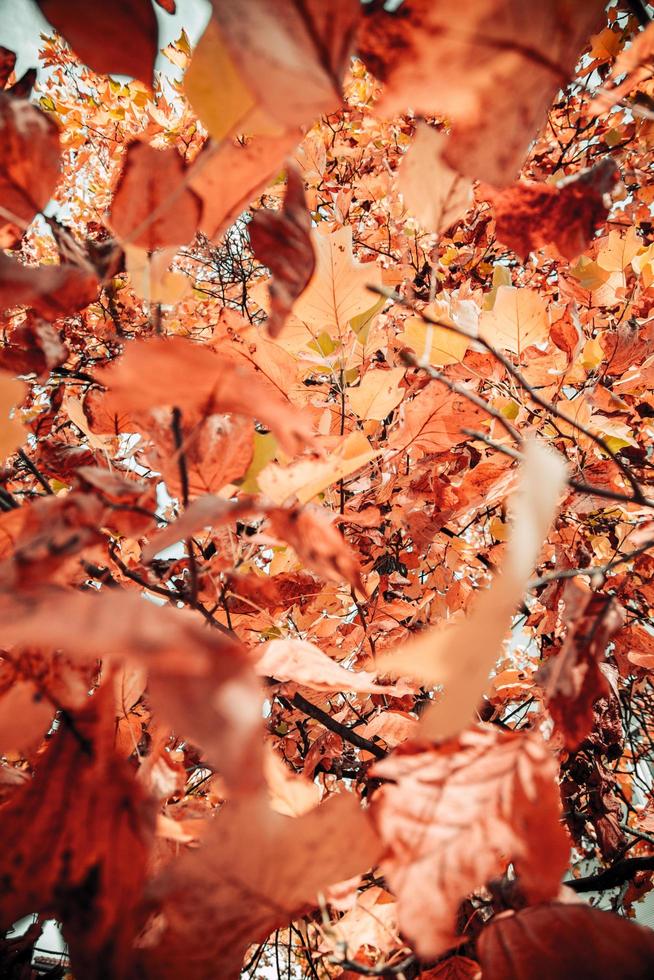
[[(383, 82), (376, 108), (446, 116), (447, 162), (499, 187), (513, 181), (557, 89), (601, 22), (602, 0), (413, 0), (364, 21), (358, 52)], [(516, 79), (520, 84), (516, 85)]]

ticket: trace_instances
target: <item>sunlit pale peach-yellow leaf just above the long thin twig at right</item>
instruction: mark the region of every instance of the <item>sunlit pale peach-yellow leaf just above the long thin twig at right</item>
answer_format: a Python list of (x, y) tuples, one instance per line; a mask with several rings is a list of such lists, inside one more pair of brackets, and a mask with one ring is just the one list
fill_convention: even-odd
[(479, 327), (494, 347), (520, 356), (526, 347), (549, 337), (547, 303), (534, 289), (499, 286), (495, 305), (482, 313)]

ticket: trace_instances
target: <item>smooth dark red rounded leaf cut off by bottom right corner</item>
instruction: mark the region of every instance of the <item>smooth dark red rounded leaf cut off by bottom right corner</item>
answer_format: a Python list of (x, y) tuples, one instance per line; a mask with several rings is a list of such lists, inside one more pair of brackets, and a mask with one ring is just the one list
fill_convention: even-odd
[(492, 920), (478, 940), (484, 980), (648, 980), (654, 933), (587, 905), (539, 905)]

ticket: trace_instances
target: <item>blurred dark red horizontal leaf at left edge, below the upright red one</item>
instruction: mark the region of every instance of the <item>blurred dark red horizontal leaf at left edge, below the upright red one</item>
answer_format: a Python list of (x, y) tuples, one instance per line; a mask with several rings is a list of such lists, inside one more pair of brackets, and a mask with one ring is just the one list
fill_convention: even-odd
[(22, 265), (0, 252), (0, 312), (31, 306), (46, 320), (57, 320), (92, 303), (98, 287), (90, 267)]

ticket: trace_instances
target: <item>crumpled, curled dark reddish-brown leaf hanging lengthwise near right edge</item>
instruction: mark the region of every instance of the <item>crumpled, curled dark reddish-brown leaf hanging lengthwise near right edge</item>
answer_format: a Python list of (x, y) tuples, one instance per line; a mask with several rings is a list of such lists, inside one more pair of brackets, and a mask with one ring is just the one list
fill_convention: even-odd
[(572, 750), (593, 729), (593, 705), (610, 693), (600, 664), (624, 620), (611, 596), (573, 585), (565, 598), (567, 636), (561, 649), (541, 664), (536, 680), (566, 748)]

